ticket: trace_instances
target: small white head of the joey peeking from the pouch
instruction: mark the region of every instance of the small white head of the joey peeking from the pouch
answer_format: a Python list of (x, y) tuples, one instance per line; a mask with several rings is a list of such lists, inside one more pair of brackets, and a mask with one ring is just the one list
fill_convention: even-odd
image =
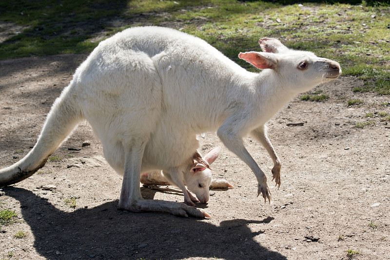
[[(211, 165), (219, 155), (220, 147), (214, 147), (202, 158)], [(212, 171), (202, 163), (194, 162), (184, 174), (184, 179), (190, 191), (195, 193), (201, 203), (209, 201), (209, 189), (212, 180)]]

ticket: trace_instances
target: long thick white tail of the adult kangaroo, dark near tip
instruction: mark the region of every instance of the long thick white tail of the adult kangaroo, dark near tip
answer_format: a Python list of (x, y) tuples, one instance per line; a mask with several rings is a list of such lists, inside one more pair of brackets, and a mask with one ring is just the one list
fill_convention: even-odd
[(20, 161), (0, 170), (0, 187), (24, 180), (43, 167), (49, 156), (83, 119), (72, 84), (54, 102), (33, 149)]

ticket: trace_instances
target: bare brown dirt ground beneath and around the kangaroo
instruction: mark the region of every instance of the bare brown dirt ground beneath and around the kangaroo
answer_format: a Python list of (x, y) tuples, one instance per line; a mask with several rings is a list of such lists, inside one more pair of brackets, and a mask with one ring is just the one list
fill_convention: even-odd
[[(85, 55), (0, 61), (0, 168), (32, 148), (46, 115)], [(294, 98), (268, 123), (282, 160), (280, 189), (271, 182), (272, 160), (261, 145), (246, 146), (267, 173), (273, 200), (256, 198), (257, 181), (214, 133), (200, 138), (201, 151), (221, 146), (214, 178), (234, 189), (212, 190), (198, 204), (210, 220), (117, 209), (121, 178), (105, 162), (88, 122), (32, 177), (5, 187), (0, 209), (15, 210), (17, 222), (1, 226), (0, 259), (145, 260), (339, 260), (390, 259), (390, 129), (368, 112), (390, 112), (388, 96), (353, 93), (363, 82), (342, 76), (315, 88), (325, 102)], [(347, 100), (364, 104), (347, 106)], [(303, 126), (287, 126), (303, 122)], [(90, 145), (83, 146), (86, 140)], [(54, 185), (45, 190), (45, 185)], [(50, 188), (50, 187), (49, 187)], [(141, 188), (144, 198), (183, 201), (173, 192)], [(76, 207), (66, 203), (76, 198)], [(14, 234), (26, 231), (25, 238)], [(310, 239), (311, 241), (309, 241)], [(12, 257), (10, 256), (12, 255)]]

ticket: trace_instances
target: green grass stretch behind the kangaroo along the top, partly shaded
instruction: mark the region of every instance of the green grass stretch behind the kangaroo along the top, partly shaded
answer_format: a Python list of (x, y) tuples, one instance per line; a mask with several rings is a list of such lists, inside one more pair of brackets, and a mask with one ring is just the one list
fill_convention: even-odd
[(344, 75), (364, 81), (354, 91), (389, 95), (390, 1), (300, 3), (304, 8), (290, 0), (1, 1), (0, 20), (23, 29), (0, 43), (0, 59), (88, 53), (97, 46), (97, 35), (107, 38), (130, 26), (168, 25), (208, 41), (253, 71), (238, 53), (259, 50), (261, 37), (278, 38), (288, 47), (339, 61)]

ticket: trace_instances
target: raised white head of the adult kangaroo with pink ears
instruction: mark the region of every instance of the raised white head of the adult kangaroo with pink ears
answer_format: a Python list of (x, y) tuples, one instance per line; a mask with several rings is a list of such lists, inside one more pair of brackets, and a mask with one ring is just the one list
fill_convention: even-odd
[(312, 52), (289, 49), (272, 38), (262, 38), (259, 44), (263, 52), (245, 52), (238, 57), (259, 69), (272, 69), (278, 83), (295, 94), (341, 75), (337, 61), (317, 57)]

